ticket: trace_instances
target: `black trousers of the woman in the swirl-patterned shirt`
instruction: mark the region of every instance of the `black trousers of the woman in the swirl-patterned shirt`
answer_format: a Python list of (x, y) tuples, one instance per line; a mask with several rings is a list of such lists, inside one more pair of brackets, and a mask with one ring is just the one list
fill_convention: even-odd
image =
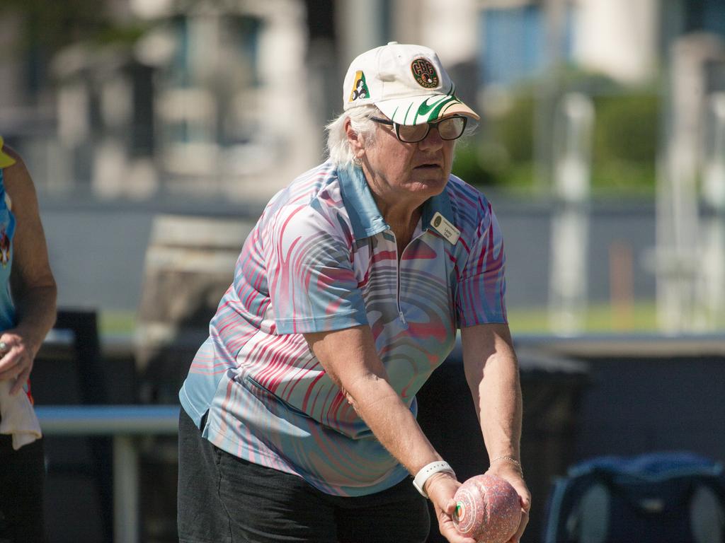
[(427, 502), (410, 479), (368, 496), (324, 494), (220, 450), (181, 410), (181, 543), (423, 543), (429, 529)]

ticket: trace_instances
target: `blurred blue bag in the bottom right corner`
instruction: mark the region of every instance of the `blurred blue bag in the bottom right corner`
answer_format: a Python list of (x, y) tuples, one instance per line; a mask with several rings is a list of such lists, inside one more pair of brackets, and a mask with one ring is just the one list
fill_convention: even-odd
[(544, 543), (725, 543), (723, 466), (689, 452), (598, 457), (555, 481)]

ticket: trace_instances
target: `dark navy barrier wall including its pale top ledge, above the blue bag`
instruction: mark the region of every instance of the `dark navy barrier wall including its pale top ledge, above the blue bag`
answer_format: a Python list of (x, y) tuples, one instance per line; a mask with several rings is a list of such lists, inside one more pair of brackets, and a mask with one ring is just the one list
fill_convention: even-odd
[(589, 364), (574, 458), (690, 450), (725, 463), (725, 334), (523, 337)]

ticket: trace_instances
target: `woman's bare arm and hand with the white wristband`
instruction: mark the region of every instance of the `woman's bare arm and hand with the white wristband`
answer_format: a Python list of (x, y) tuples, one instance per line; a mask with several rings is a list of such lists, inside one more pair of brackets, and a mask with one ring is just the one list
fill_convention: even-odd
[[(389, 384), (368, 326), (305, 334), (305, 339), (360, 418), (409, 473), (415, 475), (426, 464), (442, 460)], [(452, 497), (459, 486), (449, 473), (436, 473), (424, 489), (438, 513), (441, 533), (451, 543), (473, 543), (455, 531), (450, 518), (455, 508)]]

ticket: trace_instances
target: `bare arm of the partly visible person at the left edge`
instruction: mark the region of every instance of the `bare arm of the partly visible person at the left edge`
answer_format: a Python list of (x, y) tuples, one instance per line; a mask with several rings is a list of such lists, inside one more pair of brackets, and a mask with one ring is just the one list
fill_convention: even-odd
[(28, 380), (33, 360), (55, 322), (57, 288), (33, 180), (20, 156), (7, 147), (4, 151), (17, 161), (3, 170), (5, 190), (16, 219), (10, 290), (17, 326), (0, 334), (0, 342), (6, 345), (5, 352), (0, 353), (4, 354), (0, 358), (0, 380), (14, 379), (14, 394)]

